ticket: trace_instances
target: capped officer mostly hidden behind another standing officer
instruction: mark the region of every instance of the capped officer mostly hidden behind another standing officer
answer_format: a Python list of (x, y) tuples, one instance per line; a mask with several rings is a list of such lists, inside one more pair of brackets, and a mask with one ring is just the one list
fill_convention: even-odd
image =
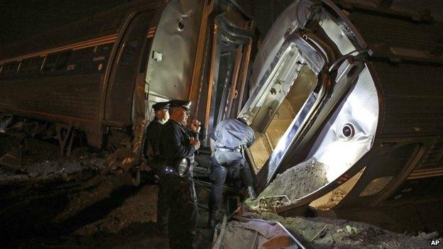
[(169, 102), (158, 102), (153, 104), (155, 118), (146, 128), (145, 156), (152, 160), (158, 156), (158, 141), (163, 124), (169, 120)]

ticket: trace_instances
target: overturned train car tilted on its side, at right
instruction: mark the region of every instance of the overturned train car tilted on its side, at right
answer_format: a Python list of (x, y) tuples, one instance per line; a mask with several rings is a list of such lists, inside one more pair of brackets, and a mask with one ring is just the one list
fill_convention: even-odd
[(253, 64), (243, 111), (256, 114), (248, 155), (261, 189), (288, 169), (303, 176), (301, 188), (317, 184), (281, 201), (279, 214), (442, 188), (442, 26), (379, 6), (342, 7), (295, 1)]

